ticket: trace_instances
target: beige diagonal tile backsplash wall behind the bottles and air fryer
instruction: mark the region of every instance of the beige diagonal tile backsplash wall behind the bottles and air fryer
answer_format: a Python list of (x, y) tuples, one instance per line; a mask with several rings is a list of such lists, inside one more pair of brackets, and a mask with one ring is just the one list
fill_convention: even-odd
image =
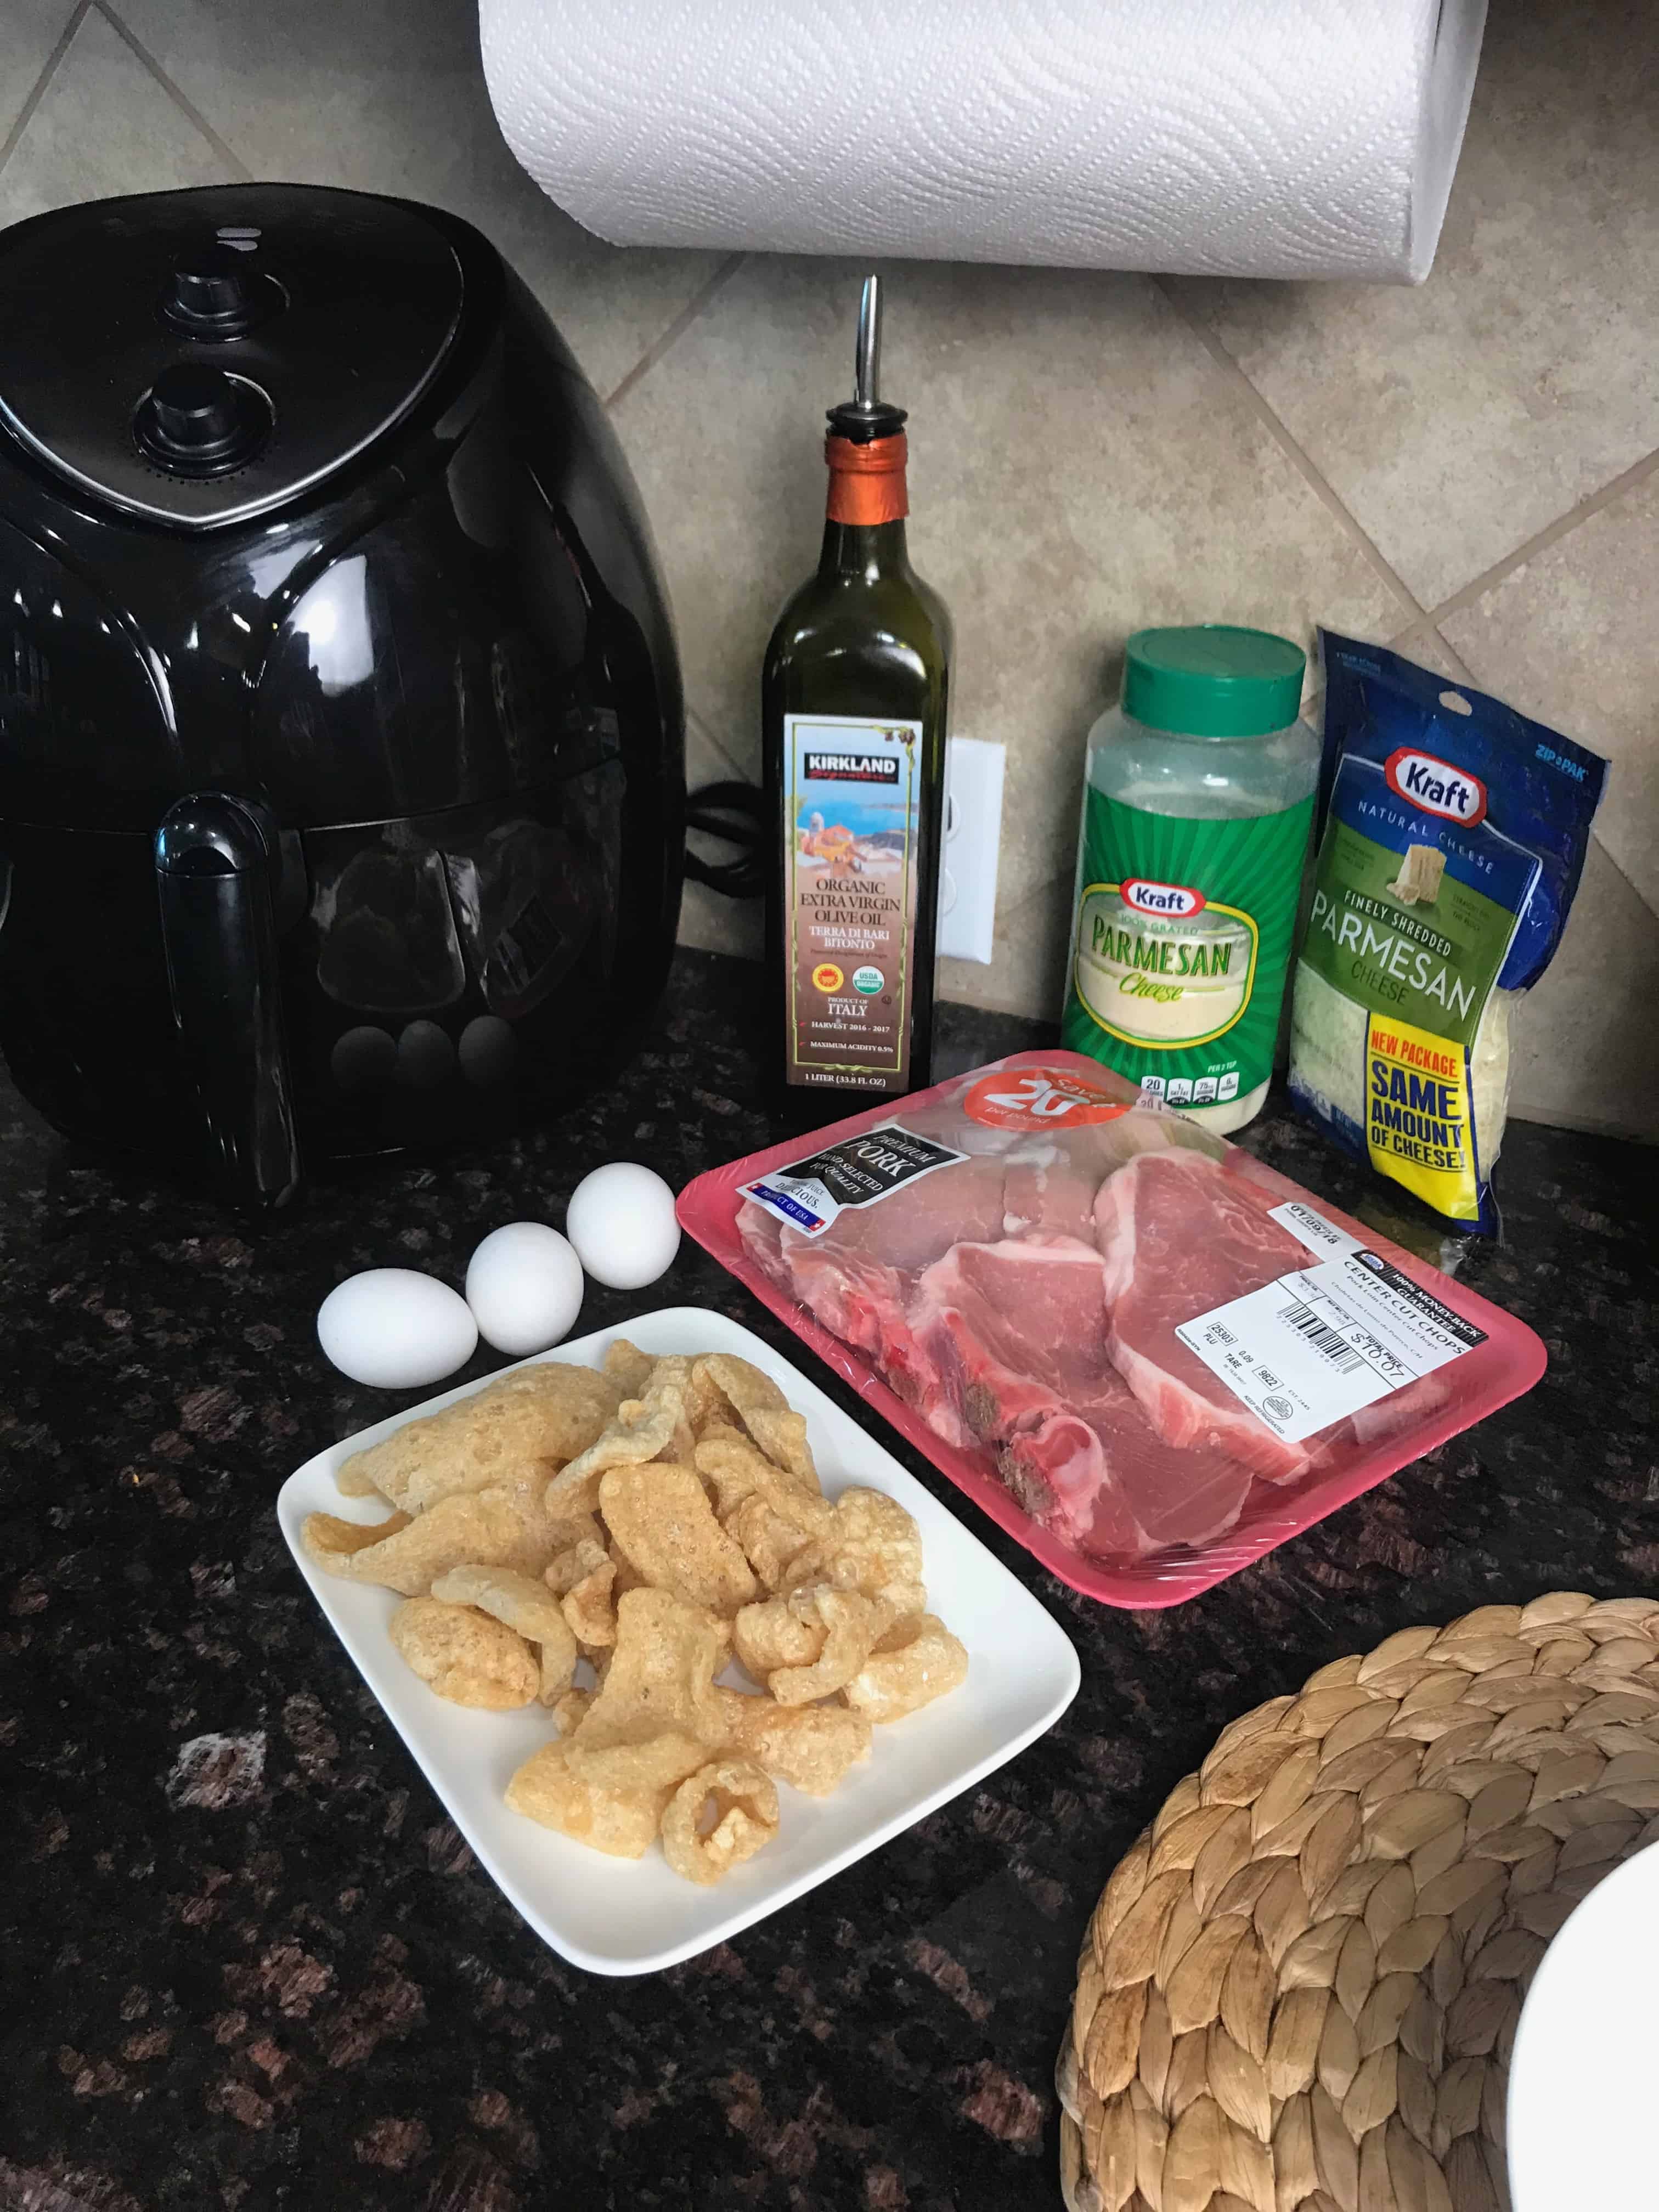
[[(692, 781), (754, 774), (759, 657), (816, 555), (863, 265), (622, 252), (495, 133), (469, 0), (0, 0), (0, 221), (296, 177), (480, 223), (571, 341), (650, 507)], [(1053, 1013), (1084, 730), (1128, 630), (1327, 622), (1599, 748), (1579, 905), (1515, 1110), (1659, 1133), (1659, 71), (1650, 0), (1493, 0), (1420, 290), (889, 268), (911, 549), (958, 619), (960, 732), (1009, 748), (995, 958)], [(1312, 690), (1312, 686), (1310, 686)], [(688, 889), (681, 936), (754, 953)]]

